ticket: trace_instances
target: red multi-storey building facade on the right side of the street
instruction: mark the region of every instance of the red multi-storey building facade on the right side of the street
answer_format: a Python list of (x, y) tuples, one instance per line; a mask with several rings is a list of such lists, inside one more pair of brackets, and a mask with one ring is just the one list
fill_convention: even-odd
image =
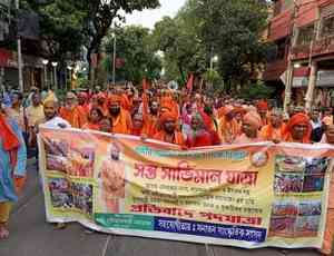
[(286, 104), (334, 107), (334, 0), (276, 0), (264, 80)]

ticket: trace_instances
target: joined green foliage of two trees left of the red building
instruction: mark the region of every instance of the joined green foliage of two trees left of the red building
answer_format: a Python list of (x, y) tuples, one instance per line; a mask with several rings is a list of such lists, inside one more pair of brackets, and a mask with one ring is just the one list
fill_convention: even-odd
[(210, 58), (226, 81), (248, 80), (265, 61), (268, 45), (261, 40), (266, 27), (265, 0), (188, 0), (177, 16), (156, 23), (157, 49), (165, 52), (168, 79), (202, 75)]

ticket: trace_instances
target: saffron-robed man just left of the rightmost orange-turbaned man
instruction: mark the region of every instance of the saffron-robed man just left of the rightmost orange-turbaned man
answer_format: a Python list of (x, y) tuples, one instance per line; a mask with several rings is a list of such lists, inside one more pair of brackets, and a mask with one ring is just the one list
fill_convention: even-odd
[(283, 140), (284, 130), (283, 114), (281, 110), (274, 109), (269, 115), (269, 124), (262, 127), (259, 136), (264, 140), (279, 142)]

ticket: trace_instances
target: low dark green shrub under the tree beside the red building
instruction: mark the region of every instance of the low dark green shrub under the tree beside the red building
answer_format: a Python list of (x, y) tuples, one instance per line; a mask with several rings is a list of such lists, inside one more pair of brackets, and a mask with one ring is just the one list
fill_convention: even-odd
[(273, 96), (274, 90), (274, 88), (267, 87), (264, 82), (256, 82), (244, 87), (239, 97), (244, 99), (268, 99)]

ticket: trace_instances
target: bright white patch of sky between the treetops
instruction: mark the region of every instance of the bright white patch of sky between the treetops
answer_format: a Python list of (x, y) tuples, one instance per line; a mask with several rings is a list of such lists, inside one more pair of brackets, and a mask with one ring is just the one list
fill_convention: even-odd
[(165, 16), (174, 17), (177, 11), (186, 3), (186, 0), (160, 0), (160, 8), (155, 10), (134, 11), (126, 16), (127, 24), (141, 24), (153, 29), (155, 23)]

